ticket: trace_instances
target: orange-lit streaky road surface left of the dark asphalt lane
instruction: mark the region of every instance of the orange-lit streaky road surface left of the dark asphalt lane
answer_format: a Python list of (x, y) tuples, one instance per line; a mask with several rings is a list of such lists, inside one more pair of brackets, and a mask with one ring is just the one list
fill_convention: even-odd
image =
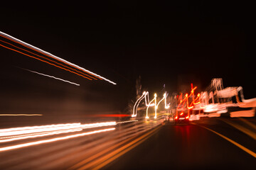
[[(40, 137), (2, 142), (0, 167), (1, 169), (91, 169), (109, 159), (109, 155), (118, 154), (126, 148), (125, 146), (142, 141), (146, 137), (145, 133), (151, 132), (161, 123), (161, 118), (146, 122), (128, 120), (104, 127), (91, 127), (47, 136), (43, 134)], [(85, 124), (78, 126), (83, 128)], [(67, 129), (67, 125), (64, 128)], [(35, 130), (39, 132), (34, 132)], [(90, 134), (100, 130), (103, 131)], [(28, 134), (25, 133), (27, 130), (24, 133), (23, 131), (21, 136), (27, 136)], [(38, 133), (41, 135), (41, 131), (44, 133), (46, 130), (33, 128), (33, 132), (29, 135), (38, 135)], [(18, 135), (20, 132), (14, 131), (14, 137), (20, 138), (21, 136)], [(6, 134), (2, 132), (1, 135)], [(18, 147), (9, 149), (13, 146)]]

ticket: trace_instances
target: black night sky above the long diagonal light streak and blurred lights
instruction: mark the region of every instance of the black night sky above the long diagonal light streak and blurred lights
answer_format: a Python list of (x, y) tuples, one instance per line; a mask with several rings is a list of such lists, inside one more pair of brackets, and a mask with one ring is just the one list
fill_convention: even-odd
[[(214, 77), (255, 97), (255, 12), (244, 1), (40, 1), (0, 7), (4, 33), (134, 92), (203, 90)], [(131, 96), (130, 96), (131, 97)]]

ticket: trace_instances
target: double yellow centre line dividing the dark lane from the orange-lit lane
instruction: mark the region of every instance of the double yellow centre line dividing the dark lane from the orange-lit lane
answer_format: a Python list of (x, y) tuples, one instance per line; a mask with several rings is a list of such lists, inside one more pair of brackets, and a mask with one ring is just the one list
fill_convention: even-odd
[[(120, 147), (119, 149), (115, 149), (110, 154), (105, 155), (104, 157), (101, 157), (100, 159), (96, 159), (95, 161), (91, 162), (90, 164), (85, 164), (84, 166), (80, 167), (79, 169), (92, 169), (92, 166), (95, 166), (93, 169), (100, 169), (103, 166), (106, 166), (110, 162), (114, 161), (114, 159), (117, 159), (118, 157), (122, 156), (126, 152), (128, 152), (130, 149), (136, 147), (137, 145), (141, 144), (149, 138), (151, 135), (153, 135), (156, 130), (159, 130), (161, 128), (161, 125), (154, 130), (151, 130), (147, 132), (146, 134), (142, 135), (141, 137), (137, 138), (136, 140), (133, 140), (132, 142), (129, 142), (127, 145), (124, 145), (123, 147)], [(136, 144), (137, 143), (137, 144)], [(132, 146), (134, 145), (134, 146)]]

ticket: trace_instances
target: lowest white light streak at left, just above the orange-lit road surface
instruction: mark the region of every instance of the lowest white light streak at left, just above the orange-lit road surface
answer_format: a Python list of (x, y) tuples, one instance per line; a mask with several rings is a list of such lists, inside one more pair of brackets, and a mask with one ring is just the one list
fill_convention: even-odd
[(4, 152), (4, 151), (8, 151), (11, 149), (18, 149), (21, 147), (29, 147), (29, 146), (33, 146), (33, 145), (40, 145), (43, 143), (49, 143), (49, 142), (55, 142), (55, 141), (60, 141), (60, 140), (68, 140), (70, 138), (74, 138), (74, 137), (82, 137), (85, 135), (92, 135), (95, 133), (100, 133), (100, 132), (107, 132), (110, 130), (115, 130), (115, 128), (107, 128), (107, 129), (102, 129), (102, 130), (94, 130), (91, 132), (83, 132), (83, 133), (79, 133), (79, 134), (75, 134), (75, 135), (68, 135), (68, 136), (64, 136), (64, 137), (55, 137), (49, 140), (38, 140), (36, 142), (27, 142), (27, 143), (23, 143), (23, 144), (19, 144), (19, 145), (12, 145), (9, 147), (0, 147), (0, 152)]

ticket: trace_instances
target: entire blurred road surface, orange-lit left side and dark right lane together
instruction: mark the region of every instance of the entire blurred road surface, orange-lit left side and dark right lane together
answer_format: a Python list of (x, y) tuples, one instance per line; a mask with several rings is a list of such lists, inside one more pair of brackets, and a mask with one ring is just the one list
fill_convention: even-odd
[[(255, 166), (255, 118), (201, 118), (189, 125), (158, 120), (117, 122), (109, 132), (0, 152), (2, 169), (217, 169)], [(242, 128), (241, 128), (242, 127)], [(49, 140), (101, 130), (29, 138)], [(222, 136), (221, 136), (222, 135)], [(226, 138), (225, 138), (226, 137)], [(232, 142), (235, 142), (232, 143)], [(242, 146), (242, 147), (241, 147)], [(246, 150), (247, 149), (247, 150)], [(248, 150), (250, 152), (248, 152)]]

